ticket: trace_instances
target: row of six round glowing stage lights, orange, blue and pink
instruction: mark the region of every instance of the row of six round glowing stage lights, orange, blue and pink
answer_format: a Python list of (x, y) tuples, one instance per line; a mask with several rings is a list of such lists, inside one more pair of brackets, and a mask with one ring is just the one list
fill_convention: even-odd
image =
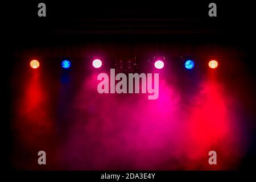
[[(92, 61), (92, 65), (94, 68), (100, 68), (102, 66), (102, 61), (100, 59), (94, 59)], [(162, 60), (156, 60), (154, 65), (155, 65), (155, 68), (162, 69), (164, 67), (164, 62)], [(210, 68), (215, 69), (218, 67), (218, 62), (216, 60), (210, 60), (208, 65)], [(30, 61), (31, 68), (36, 69), (36, 68), (39, 68), (39, 66), (40, 66), (40, 63), (38, 60)], [(61, 62), (61, 67), (63, 69), (69, 69), (71, 67), (71, 61), (63, 60)], [(185, 60), (184, 67), (186, 69), (193, 69), (195, 67), (195, 61), (191, 59)]]

